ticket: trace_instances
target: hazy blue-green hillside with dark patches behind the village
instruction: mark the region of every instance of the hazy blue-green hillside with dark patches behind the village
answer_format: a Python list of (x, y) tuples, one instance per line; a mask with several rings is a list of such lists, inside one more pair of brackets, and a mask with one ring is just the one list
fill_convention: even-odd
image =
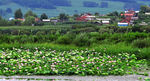
[(0, 15), (12, 17), (16, 9), (25, 13), (32, 10), (38, 15), (47, 13), (57, 16), (59, 13), (95, 13), (106, 14), (124, 9), (138, 10), (140, 5), (150, 5), (149, 0), (0, 0)]

